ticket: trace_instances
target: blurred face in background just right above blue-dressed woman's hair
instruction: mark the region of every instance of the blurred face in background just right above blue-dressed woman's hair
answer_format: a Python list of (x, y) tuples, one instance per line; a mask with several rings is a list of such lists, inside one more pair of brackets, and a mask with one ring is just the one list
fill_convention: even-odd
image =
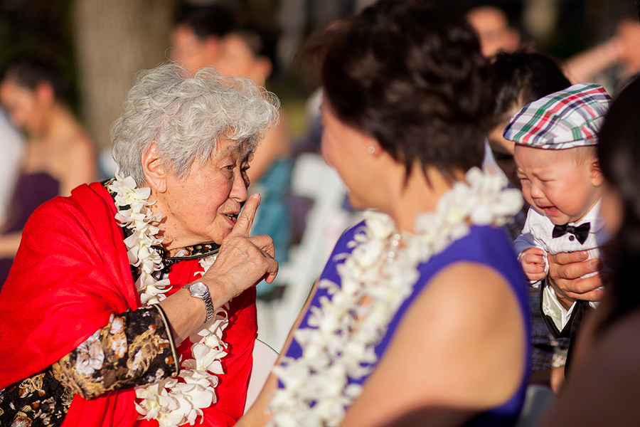
[(513, 52), (520, 46), (520, 33), (509, 25), (506, 13), (495, 6), (478, 6), (466, 14), (480, 38), (482, 54), (491, 58), (498, 52)]

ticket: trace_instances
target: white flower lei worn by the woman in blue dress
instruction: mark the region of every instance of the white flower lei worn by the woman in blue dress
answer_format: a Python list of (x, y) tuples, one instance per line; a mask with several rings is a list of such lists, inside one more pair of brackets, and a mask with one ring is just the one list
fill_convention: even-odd
[(437, 204), (417, 218), (415, 234), (398, 231), (385, 214), (366, 214), (351, 254), (337, 265), (341, 286), (321, 280), (329, 297), (311, 307), (309, 328), (294, 337), (302, 357), (284, 357), (274, 373), (284, 388), (274, 392), (268, 426), (337, 426), (360, 395), (361, 379), (375, 364), (375, 344), (411, 294), (417, 268), (469, 233), (471, 225), (502, 226), (522, 206), (517, 189), (505, 189), (502, 176), (474, 168)]

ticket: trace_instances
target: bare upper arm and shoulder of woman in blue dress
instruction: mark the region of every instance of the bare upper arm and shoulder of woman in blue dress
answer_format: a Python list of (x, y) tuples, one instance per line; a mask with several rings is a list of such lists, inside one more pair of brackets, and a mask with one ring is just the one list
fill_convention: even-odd
[(484, 411), (513, 396), (525, 369), (523, 315), (506, 280), (486, 265), (454, 263), (408, 307), (343, 425), (390, 421), (410, 408)]

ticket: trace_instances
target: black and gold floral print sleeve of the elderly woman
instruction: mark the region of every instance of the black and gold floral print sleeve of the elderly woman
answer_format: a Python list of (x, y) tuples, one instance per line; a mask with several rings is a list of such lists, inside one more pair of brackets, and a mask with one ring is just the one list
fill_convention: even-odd
[(158, 306), (112, 314), (78, 348), (0, 390), (0, 426), (60, 426), (73, 399), (151, 384), (178, 373), (169, 325)]

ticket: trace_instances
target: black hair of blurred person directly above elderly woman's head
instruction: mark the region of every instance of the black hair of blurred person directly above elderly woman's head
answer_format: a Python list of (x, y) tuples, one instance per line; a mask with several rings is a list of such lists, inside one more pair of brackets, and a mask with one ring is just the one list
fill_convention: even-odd
[(233, 14), (222, 6), (184, 5), (174, 18), (174, 26), (186, 25), (198, 38), (224, 36), (236, 26)]

